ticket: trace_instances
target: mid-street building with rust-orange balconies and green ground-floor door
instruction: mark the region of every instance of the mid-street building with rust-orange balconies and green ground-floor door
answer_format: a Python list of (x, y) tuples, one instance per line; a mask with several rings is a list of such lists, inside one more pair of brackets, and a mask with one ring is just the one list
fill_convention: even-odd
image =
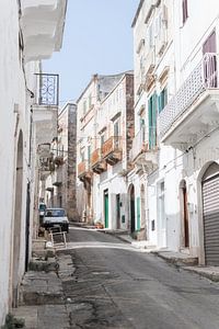
[[(88, 112), (84, 102), (91, 104)], [(94, 76), (78, 101), (79, 213), (84, 220), (111, 229), (128, 227), (126, 174), (132, 102), (132, 72)]]

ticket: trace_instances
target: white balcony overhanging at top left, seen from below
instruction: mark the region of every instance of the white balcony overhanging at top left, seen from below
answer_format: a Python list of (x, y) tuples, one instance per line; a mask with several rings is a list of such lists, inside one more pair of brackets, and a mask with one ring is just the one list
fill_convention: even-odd
[(22, 0), (25, 61), (49, 58), (61, 48), (67, 0)]

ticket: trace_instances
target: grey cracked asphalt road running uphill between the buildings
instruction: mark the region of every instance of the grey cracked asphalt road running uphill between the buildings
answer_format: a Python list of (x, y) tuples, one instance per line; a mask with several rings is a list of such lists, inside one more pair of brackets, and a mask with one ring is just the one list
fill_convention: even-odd
[(219, 284), (107, 234), (70, 229), (72, 328), (218, 329)]

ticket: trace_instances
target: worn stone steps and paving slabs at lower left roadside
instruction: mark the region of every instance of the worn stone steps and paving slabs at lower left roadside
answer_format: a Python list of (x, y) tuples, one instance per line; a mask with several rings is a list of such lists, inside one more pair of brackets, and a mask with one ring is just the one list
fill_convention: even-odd
[[(42, 260), (39, 260), (42, 263)], [(48, 261), (50, 263), (50, 260)], [(45, 261), (46, 263), (46, 261)], [(72, 280), (74, 268), (71, 257), (56, 257), (56, 270), (47, 266), (45, 271), (30, 271), (25, 274), (20, 291), (20, 306), (13, 309), (16, 318), (25, 320), (26, 329), (69, 329), (68, 300), (65, 297), (62, 282)], [(35, 265), (41, 269), (35, 260)]]

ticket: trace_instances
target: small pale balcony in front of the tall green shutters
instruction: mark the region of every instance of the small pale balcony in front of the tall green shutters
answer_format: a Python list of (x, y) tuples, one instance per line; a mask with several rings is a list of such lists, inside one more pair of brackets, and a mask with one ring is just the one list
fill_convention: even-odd
[[(151, 129), (150, 132), (153, 134)], [(146, 127), (141, 127), (135, 136), (129, 159), (135, 164), (137, 173), (150, 172), (158, 167), (158, 148), (149, 146), (146, 140)]]

